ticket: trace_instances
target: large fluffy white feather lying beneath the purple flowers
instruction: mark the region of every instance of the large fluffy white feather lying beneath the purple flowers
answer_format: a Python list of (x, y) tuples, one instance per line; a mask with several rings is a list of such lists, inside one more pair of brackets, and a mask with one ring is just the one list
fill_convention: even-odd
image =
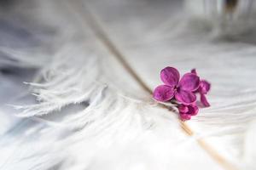
[[(0, 126), (0, 169), (255, 168), (254, 45), (219, 40), (223, 35), (214, 28), (213, 33), (205, 31), (207, 24), (194, 28), (188, 18), (179, 22), (183, 14), (175, 7), (180, 4), (164, 4), (155, 8), (146, 1), (34, 1), (36, 10), (25, 16), (59, 32), (54, 34), (58, 45), (0, 47), (0, 69), (12, 65), (37, 71), (24, 78), (28, 89), (15, 92), (22, 98), (8, 99), (17, 111), (0, 108), (1, 123), (8, 125)], [(183, 132), (175, 112), (155, 104), (111, 53), (109, 42), (102, 43), (90, 20), (85, 22), (88, 16), (81, 8), (90, 10), (149, 88), (160, 83), (159, 71), (166, 65), (182, 72), (195, 67), (212, 82), (212, 106), (188, 123), (193, 136)], [(166, 14), (174, 16), (166, 21)], [(5, 88), (16, 83), (0, 78)], [(33, 95), (28, 102), (24, 91)], [(232, 166), (207, 155), (202, 139)]]

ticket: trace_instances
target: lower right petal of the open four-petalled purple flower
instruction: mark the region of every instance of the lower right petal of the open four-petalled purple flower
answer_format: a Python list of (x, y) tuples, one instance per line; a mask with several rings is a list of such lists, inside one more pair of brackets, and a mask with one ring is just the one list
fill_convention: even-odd
[(177, 101), (181, 102), (182, 104), (191, 104), (195, 102), (196, 96), (192, 92), (180, 89), (175, 94), (175, 99), (177, 99)]

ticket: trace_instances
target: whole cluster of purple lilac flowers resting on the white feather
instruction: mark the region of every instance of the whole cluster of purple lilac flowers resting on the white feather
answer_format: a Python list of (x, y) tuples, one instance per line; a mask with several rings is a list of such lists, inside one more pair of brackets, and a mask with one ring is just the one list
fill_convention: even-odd
[(160, 71), (160, 78), (164, 84), (154, 89), (153, 97), (160, 102), (174, 102), (177, 104), (180, 118), (189, 120), (197, 115), (199, 108), (196, 105), (196, 95), (200, 94), (201, 104), (208, 107), (206, 94), (211, 84), (198, 77), (195, 69), (181, 77), (176, 68), (166, 67)]

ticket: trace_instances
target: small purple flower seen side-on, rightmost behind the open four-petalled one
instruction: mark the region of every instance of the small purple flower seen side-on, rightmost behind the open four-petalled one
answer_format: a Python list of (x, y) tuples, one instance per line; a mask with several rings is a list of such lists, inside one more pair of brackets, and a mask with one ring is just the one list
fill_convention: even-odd
[[(197, 75), (195, 69), (193, 69), (191, 71), (191, 73), (194, 73), (195, 75)], [(209, 102), (207, 101), (207, 97), (206, 97), (206, 94), (209, 92), (210, 88), (211, 88), (210, 82), (207, 82), (206, 80), (200, 80), (199, 87), (195, 91), (201, 95), (201, 97), (200, 97), (201, 104), (206, 107), (210, 106)]]

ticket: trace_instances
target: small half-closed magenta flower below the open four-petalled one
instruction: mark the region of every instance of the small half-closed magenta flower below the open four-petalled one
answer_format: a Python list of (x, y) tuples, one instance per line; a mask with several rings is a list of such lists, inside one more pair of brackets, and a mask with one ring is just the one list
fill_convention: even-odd
[(197, 115), (199, 110), (195, 104), (190, 104), (190, 105), (182, 104), (182, 105), (179, 105), (177, 109), (179, 111), (179, 116), (183, 121), (190, 120), (191, 116)]

